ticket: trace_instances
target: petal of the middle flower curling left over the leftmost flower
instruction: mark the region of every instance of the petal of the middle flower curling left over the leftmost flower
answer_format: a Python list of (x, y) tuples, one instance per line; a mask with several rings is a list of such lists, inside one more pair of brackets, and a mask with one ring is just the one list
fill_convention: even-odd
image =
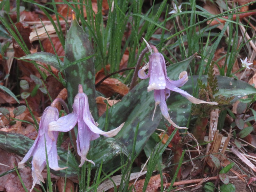
[(57, 121), (52, 121), (51, 123), (49, 123), (48, 132), (50, 131), (68, 132), (75, 127), (77, 119), (78, 119), (78, 116), (74, 112), (66, 116), (60, 117)]

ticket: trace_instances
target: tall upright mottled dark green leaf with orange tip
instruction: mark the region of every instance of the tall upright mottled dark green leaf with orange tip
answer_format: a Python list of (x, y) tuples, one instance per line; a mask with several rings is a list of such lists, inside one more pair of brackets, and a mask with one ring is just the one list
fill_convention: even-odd
[[(65, 79), (68, 90), (68, 107), (72, 111), (72, 105), (76, 94), (78, 93), (78, 84), (83, 85), (84, 93), (88, 96), (92, 116), (96, 119), (96, 92), (95, 92), (95, 68), (93, 58), (83, 60), (93, 55), (93, 49), (90, 40), (78, 22), (72, 20), (71, 27), (68, 30), (65, 42)], [(70, 65), (77, 60), (79, 63)]]

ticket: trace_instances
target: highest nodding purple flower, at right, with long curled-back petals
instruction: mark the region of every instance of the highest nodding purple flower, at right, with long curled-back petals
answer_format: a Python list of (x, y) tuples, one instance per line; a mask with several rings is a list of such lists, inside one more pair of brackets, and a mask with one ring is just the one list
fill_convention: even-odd
[[(196, 99), (192, 95), (178, 88), (183, 86), (188, 81), (187, 72), (186, 71), (181, 72), (179, 76), (180, 79), (177, 81), (173, 81), (169, 79), (166, 72), (164, 56), (157, 51), (156, 47), (153, 46), (153, 49), (154, 49), (154, 53), (150, 55), (149, 62), (147, 63), (147, 65), (139, 70), (138, 76), (141, 79), (146, 79), (149, 77), (148, 92), (154, 90), (156, 106), (158, 104), (160, 105), (161, 112), (164, 118), (174, 127), (187, 129), (186, 127), (179, 127), (170, 118), (167, 104), (166, 104), (166, 99), (170, 96), (171, 91), (180, 93), (183, 97), (186, 97), (189, 101), (195, 104), (208, 103), (210, 105), (217, 105), (218, 103), (206, 102), (203, 100)], [(148, 69), (148, 74), (145, 73), (146, 69)], [(154, 110), (154, 114), (155, 114), (155, 110)], [(152, 120), (153, 120), (153, 117), (152, 117)]]

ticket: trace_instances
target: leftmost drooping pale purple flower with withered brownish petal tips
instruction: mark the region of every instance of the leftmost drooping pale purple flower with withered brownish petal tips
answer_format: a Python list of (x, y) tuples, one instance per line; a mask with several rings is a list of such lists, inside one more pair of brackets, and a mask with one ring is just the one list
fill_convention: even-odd
[[(57, 131), (52, 132), (52, 136), (54, 140), (50, 138), (48, 135), (48, 124), (52, 121), (56, 121), (59, 118), (59, 111), (55, 107), (47, 107), (44, 110), (44, 113), (41, 117), (41, 121), (39, 124), (39, 130), (37, 138), (33, 144), (33, 146), (29, 149), (26, 156), (22, 159), (22, 161), (18, 164), (18, 168), (24, 168), (24, 164), (28, 161), (28, 159), (33, 156), (32, 159), (32, 176), (33, 176), (33, 185), (30, 189), (30, 192), (33, 190), (36, 184), (40, 184), (40, 181), (44, 183), (43, 176), (41, 172), (44, 170), (46, 166), (46, 155), (45, 155), (45, 143), (48, 155), (49, 167), (53, 170), (62, 170), (68, 167), (60, 168), (58, 165), (58, 159), (60, 157), (57, 154)], [(45, 142), (45, 140), (46, 142)]]

